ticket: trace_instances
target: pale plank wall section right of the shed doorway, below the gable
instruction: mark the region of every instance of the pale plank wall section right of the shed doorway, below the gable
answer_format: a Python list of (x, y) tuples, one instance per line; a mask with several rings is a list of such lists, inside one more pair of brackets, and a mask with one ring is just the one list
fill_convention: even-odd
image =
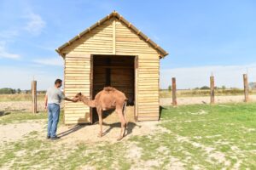
[(154, 121), (160, 116), (159, 59), (155, 55), (138, 56), (138, 121)]

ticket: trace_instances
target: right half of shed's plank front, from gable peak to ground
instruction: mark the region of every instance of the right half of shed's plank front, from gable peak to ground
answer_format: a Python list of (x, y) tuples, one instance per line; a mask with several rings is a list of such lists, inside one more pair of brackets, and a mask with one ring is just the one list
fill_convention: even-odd
[(159, 54), (137, 32), (116, 21), (116, 54), (138, 56), (137, 114), (138, 121), (159, 119)]

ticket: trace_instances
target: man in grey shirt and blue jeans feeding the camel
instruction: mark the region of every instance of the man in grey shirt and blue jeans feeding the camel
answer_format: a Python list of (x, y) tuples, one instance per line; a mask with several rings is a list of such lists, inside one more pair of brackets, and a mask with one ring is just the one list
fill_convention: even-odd
[(77, 102), (78, 99), (68, 99), (61, 92), (59, 88), (61, 88), (62, 81), (61, 79), (55, 80), (55, 86), (51, 87), (47, 90), (45, 98), (44, 98), (44, 106), (45, 109), (48, 109), (48, 130), (47, 130), (47, 139), (60, 139), (56, 136), (57, 126), (60, 117), (60, 105), (61, 99), (65, 99), (67, 101)]

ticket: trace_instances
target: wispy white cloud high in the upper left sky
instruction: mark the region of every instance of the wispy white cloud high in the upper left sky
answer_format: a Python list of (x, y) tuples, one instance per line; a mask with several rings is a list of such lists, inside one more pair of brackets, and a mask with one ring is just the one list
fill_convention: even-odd
[(39, 35), (46, 26), (46, 22), (39, 14), (29, 13), (25, 18), (28, 19), (28, 22), (26, 23), (24, 29), (33, 35)]

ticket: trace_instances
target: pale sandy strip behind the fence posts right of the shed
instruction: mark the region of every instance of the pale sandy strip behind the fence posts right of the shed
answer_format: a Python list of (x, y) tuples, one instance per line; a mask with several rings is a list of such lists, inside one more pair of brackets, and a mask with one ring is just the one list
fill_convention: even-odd
[[(250, 101), (256, 102), (256, 95), (249, 96)], [(221, 103), (240, 103), (243, 102), (243, 95), (236, 96), (216, 96), (215, 102), (217, 104)], [(195, 105), (195, 104), (209, 104), (210, 97), (177, 97), (177, 105)], [(161, 98), (160, 105), (172, 105), (172, 98)]]

